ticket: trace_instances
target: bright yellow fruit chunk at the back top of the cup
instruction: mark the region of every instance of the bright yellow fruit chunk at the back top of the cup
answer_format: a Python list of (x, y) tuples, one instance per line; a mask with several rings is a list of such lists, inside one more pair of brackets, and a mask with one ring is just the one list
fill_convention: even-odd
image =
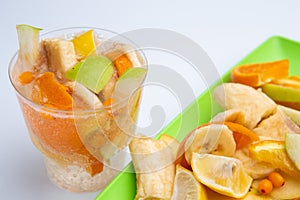
[(96, 45), (93, 36), (93, 30), (84, 32), (76, 36), (72, 42), (74, 44), (75, 52), (79, 59), (84, 59), (87, 56), (95, 53)]

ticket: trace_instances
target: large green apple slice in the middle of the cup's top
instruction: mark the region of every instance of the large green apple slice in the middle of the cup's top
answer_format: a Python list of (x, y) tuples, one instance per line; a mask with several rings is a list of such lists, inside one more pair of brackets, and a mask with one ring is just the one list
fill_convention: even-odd
[(99, 93), (112, 77), (113, 71), (111, 60), (105, 56), (93, 56), (77, 63), (65, 73), (65, 77)]

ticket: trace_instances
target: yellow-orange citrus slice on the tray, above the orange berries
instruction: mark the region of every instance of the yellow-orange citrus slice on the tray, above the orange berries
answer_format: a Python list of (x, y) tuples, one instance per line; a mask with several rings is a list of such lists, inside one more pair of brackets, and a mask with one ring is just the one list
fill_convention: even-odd
[(270, 163), (274, 168), (292, 176), (300, 176), (300, 171), (289, 158), (284, 141), (264, 140), (249, 146), (250, 156), (257, 161)]

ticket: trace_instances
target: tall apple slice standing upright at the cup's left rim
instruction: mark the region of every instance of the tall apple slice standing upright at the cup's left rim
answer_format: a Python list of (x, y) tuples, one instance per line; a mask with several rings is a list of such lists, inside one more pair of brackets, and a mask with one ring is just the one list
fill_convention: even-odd
[(23, 67), (32, 71), (39, 59), (40, 28), (20, 24), (16, 26), (19, 40), (19, 59)]

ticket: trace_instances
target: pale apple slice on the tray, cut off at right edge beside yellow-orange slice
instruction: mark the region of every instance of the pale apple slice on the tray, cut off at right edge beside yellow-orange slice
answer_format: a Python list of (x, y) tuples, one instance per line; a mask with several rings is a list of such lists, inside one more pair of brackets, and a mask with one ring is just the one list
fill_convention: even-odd
[(285, 136), (285, 148), (290, 159), (300, 170), (300, 134), (287, 133)]

